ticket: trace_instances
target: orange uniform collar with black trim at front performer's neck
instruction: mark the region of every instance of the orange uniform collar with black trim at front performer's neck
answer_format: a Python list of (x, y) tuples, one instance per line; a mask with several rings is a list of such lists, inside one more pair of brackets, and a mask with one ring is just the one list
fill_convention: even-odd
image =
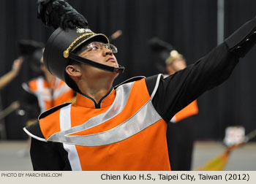
[(116, 98), (116, 91), (111, 88), (108, 93), (99, 100), (99, 103), (92, 99), (90, 96), (78, 93), (76, 104), (78, 106), (99, 109), (110, 106)]

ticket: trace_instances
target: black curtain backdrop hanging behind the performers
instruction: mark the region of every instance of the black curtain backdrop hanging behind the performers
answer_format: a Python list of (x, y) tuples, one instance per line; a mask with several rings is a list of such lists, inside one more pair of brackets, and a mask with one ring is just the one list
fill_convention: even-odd
[[(118, 62), (126, 67), (116, 83), (136, 75), (158, 74), (156, 53), (148, 39), (159, 37), (184, 54), (192, 64), (217, 46), (217, 0), (69, 0), (89, 21), (91, 30), (108, 36), (123, 31), (114, 44)], [(225, 0), (225, 37), (256, 15), (255, 0)], [(46, 42), (53, 28), (37, 20), (36, 0), (0, 1), (0, 76), (10, 71), (18, 57), (17, 41)], [(246, 133), (256, 129), (256, 47), (241, 59), (230, 79), (199, 99), (199, 115), (192, 118), (197, 139), (223, 139), (227, 126), (241, 125)], [(164, 61), (162, 61), (164, 62)], [(21, 83), (33, 74), (28, 58), (18, 77), (1, 89), (1, 106), (21, 98)], [(5, 119), (7, 139), (25, 139), (26, 116), (15, 112)]]

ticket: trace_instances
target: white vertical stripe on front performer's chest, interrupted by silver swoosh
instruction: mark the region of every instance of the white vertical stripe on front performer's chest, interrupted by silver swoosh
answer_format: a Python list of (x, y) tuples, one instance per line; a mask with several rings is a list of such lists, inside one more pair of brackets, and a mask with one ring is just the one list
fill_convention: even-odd
[[(59, 114), (61, 131), (65, 131), (71, 128), (70, 109), (71, 104), (61, 108), (61, 112)], [(78, 156), (78, 151), (76, 150), (75, 145), (67, 145), (63, 143), (63, 147), (65, 150), (67, 150), (69, 163), (72, 171), (81, 171), (82, 168)]]

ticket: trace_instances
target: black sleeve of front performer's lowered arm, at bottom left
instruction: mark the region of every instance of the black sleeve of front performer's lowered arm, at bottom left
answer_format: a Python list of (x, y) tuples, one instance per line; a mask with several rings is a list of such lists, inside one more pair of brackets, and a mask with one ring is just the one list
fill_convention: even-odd
[(30, 155), (34, 171), (71, 170), (67, 151), (61, 143), (31, 138)]

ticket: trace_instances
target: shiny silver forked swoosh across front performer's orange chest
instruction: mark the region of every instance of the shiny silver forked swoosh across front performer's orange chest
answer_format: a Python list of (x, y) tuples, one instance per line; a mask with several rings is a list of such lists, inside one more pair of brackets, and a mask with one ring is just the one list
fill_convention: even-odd
[[(138, 110), (132, 117), (116, 126), (109, 131), (103, 131), (98, 134), (90, 134), (86, 136), (72, 136), (75, 132), (84, 131), (90, 129), (101, 123), (105, 123), (111, 118), (118, 115), (127, 104), (127, 99), (129, 99), (129, 92), (131, 91), (133, 83), (127, 83), (119, 86), (116, 89), (116, 100), (113, 102), (112, 106), (108, 111), (91, 118), (82, 126), (76, 126), (72, 129), (65, 129), (65, 131), (57, 132), (48, 138), (48, 141), (53, 142), (63, 142), (70, 145), (81, 145), (81, 146), (100, 146), (109, 145), (115, 142), (120, 142), (124, 139), (132, 137), (138, 134), (143, 129), (156, 123), (161, 119), (160, 115), (154, 109), (151, 99), (143, 105), (143, 107)], [(119, 99), (120, 98), (120, 99)], [(66, 107), (64, 107), (66, 108)], [(62, 110), (62, 109), (61, 109)], [(70, 113), (70, 112), (69, 112)], [(60, 117), (63, 120), (67, 120), (67, 117)]]

